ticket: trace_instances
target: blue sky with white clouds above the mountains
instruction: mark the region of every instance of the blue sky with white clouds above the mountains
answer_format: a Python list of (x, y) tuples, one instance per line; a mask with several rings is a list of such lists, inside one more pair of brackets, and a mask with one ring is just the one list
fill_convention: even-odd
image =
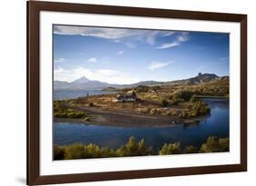
[(229, 75), (229, 34), (54, 25), (54, 79), (107, 83)]

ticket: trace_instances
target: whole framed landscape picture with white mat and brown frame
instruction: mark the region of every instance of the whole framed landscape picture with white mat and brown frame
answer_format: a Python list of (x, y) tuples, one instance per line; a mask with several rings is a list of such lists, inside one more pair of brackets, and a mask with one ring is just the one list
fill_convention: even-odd
[(27, 2), (27, 184), (247, 171), (247, 15)]

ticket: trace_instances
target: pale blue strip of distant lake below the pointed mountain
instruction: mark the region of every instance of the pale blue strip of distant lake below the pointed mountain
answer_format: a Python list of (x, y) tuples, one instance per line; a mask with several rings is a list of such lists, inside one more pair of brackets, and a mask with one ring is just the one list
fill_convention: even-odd
[(54, 100), (73, 99), (77, 97), (84, 97), (89, 95), (100, 95), (115, 93), (113, 91), (102, 91), (102, 90), (54, 90)]

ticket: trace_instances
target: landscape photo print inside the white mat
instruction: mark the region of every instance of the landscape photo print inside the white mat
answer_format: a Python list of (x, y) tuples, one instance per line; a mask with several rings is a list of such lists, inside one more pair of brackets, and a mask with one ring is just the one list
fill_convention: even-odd
[(230, 34), (53, 25), (53, 160), (230, 151)]

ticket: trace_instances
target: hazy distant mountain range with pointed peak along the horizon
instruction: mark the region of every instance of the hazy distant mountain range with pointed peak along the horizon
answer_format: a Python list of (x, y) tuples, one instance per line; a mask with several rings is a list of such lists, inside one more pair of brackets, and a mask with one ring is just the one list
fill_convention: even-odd
[(54, 89), (105, 89), (108, 87), (113, 88), (125, 88), (125, 87), (137, 87), (137, 86), (150, 86), (150, 85), (171, 85), (171, 84), (193, 84), (193, 83), (204, 83), (210, 82), (218, 79), (229, 79), (229, 76), (218, 76), (214, 73), (199, 73), (195, 77), (191, 77), (183, 80), (176, 80), (171, 82), (156, 82), (156, 81), (143, 81), (132, 84), (115, 84), (115, 83), (105, 83), (95, 80), (89, 80), (87, 77), (83, 76), (73, 82), (64, 81), (54, 81)]

